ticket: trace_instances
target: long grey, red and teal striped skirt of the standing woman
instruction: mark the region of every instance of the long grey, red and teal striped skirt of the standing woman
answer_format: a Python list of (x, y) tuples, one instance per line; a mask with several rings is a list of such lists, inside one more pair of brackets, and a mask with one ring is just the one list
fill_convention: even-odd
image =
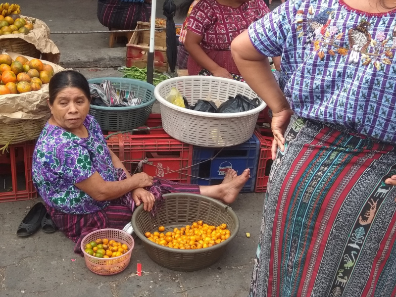
[(396, 296), (396, 148), (296, 116), (285, 137), (249, 296)]

